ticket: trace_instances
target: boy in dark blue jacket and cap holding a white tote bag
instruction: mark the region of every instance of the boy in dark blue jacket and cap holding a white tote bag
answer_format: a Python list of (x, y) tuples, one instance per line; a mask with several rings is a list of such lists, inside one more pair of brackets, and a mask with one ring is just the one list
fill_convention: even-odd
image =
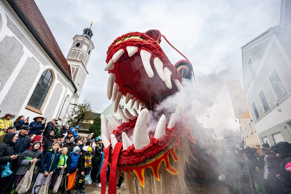
[(35, 183), (32, 187), (32, 193), (37, 194), (42, 183), (47, 181), (47, 178), (53, 175), (54, 171), (58, 166), (61, 153), (58, 151), (60, 146), (59, 141), (55, 141), (52, 145), (52, 148), (47, 151), (43, 156), (42, 161), (40, 162), (39, 174), (35, 180)]

